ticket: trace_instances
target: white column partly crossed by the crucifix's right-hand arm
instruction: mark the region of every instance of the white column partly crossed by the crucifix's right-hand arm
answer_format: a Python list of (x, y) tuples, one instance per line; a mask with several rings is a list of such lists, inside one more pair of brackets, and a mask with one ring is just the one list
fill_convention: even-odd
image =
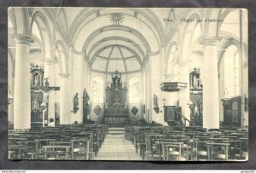
[[(49, 87), (55, 86), (55, 60), (46, 59), (44, 61), (44, 78), (48, 78)], [(45, 81), (44, 81), (45, 82)], [(48, 101), (48, 126), (55, 126), (55, 92), (59, 91), (51, 91), (49, 92), (49, 101)], [(50, 122), (49, 119), (53, 119), (53, 122)]]

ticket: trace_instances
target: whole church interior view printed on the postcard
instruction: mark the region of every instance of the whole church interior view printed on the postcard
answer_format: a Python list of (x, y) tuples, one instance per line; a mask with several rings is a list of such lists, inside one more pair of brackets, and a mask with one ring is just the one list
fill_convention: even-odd
[(9, 159), (248, 159), (247, 10), (8, 14)]

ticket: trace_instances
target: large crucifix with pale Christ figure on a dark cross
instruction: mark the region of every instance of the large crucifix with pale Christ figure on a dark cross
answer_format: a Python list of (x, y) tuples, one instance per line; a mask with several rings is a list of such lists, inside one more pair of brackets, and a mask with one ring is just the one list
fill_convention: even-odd
[(42, 92), (44, 94), (44, 100), (42, 102), (42, 104), (40, 105), (41, 107), (44, 107), (43, 110), (43, 126), (45, 123), (45, 108), (48, 108), (48, 100), (49, 100), (49, 93), (54, 91), (54, 90), (60, 90), (60, 87), (49, 87), (49, 82), (48, 82), (49, 78), (45, 78), (45, 83), (44, 86), (39, 87), (39, 91)]

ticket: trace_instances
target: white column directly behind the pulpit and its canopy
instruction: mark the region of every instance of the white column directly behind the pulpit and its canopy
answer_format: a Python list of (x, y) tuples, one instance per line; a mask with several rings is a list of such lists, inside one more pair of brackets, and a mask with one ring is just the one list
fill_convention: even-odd
[[(190, 100), (190, 89), (189, 89), (189, 62), (181, 61), (180, 62), (180, 74), (179, 74), (179, 82), (186, 83), (186, 89), (182, 89), (179, 91), (179, 106), (182, 107), (183, 117), (190, 120), (190, 109), (188, 106), (188, 102)], [(186, 126), (189, 126), (189, 122), (183, 121)]]

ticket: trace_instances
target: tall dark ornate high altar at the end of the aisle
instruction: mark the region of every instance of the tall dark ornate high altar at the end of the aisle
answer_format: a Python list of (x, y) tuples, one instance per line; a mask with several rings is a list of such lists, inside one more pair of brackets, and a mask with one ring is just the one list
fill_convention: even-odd
[(116, 71), (112, 74), (112, 84), (106, 89), (104, 107), (105, 124), (127, 124), (129, 109), (127, 104), (127, 88), (121, 82), (122, 75)]

